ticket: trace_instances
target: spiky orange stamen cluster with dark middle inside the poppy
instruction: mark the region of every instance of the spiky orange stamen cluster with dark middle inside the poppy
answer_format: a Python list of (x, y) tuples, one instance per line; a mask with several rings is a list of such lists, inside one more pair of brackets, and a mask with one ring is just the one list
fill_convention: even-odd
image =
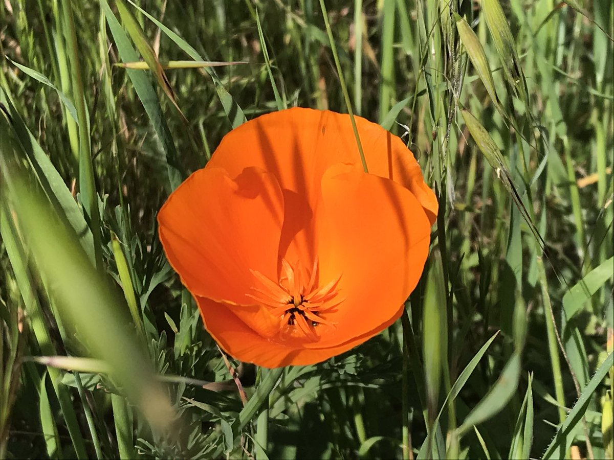
[(300, 267), (295, 270), (286, 259), (282, 259), (281, 264), (282, 275), (278, 283), (256, 270), (250, 270), (260, 286), (252, 288), (256, 294), (247, 296), (268, 307), (271, 315), (279, 318), (282, 338), (290, 336), (316, 340), (317, 326), (335, 326), (332, 321), (322, 318), (322, 314), (341, 303), (335, 298), (341, 275), (319, 288), (316, 286), (317, 258), (307, 283), (303, 283)]

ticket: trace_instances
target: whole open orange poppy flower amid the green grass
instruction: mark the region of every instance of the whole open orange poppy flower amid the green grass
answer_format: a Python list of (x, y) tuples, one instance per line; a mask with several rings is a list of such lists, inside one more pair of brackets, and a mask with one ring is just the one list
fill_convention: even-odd
[(437, 199), (402, 140), (288, 109), (225, 136), (158, 213), (168, 260), (229, 355), (312, 364), (394, 323), (418, 283)]

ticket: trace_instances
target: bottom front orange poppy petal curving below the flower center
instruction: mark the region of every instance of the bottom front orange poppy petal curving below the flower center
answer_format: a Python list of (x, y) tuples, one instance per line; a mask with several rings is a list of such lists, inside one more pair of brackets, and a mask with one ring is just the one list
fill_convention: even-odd
[(243, 362), (252, 362), (257, 366), (274, 367), (306, 366), (325, 361), (332, 356), (360, 345), (396, 321), (403, 311), (398, 310), (386, 323), (368, 331), (348, 342), (328, 348), (292, 347), (266, 339), (255, 332), (235, 315), (239, 307), (212, 301), (205, 297), (196, 297), (203, 323), (209, 334), (219, 343), (222, 350), (233, 358)]

